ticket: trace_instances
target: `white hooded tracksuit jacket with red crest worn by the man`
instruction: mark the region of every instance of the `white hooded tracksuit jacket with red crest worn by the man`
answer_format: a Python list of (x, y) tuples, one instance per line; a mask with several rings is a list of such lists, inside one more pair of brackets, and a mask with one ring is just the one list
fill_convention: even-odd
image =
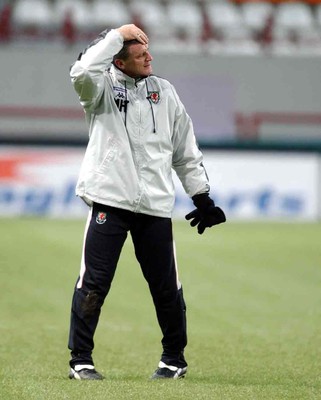
[(172, 168), (190, 197), (209, 191), (191, 119), (167, 80), (135, 81), (111, 64), (123, 46), (117, 30), (102, 37), (70, 70), (89, 125), (76, 194), (89, 205), (171, 217)]

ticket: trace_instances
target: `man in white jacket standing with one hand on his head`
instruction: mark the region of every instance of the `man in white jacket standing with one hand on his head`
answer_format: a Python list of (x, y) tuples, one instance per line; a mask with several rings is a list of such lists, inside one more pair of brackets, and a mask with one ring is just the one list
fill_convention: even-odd
[(163, 334), (152, 378), (181, 378), (187, 370), (172, 168), (196, 206), (186, 219), (200, 234), (225, 215), (209, 197), (191, 120), (174, 87), (152, 75), (152, 59), (148, 37), (130, 24), (102, 32), (70, 71), (89, 126), (76, 193), (90, 206), (72, 301), (70, 378), (103, 379), (94, 368), (93, 338), (128, 232)]

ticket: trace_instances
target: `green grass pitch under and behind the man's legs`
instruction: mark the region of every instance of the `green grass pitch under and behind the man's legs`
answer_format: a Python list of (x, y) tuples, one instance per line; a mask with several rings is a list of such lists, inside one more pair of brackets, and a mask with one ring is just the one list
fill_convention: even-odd
[(185, 379), (151, 381), (160, 331), (128, 238), (96, 333), (106, 379), (70, 381), (67, 336), (85, 221), (0, 220), (0, 398), (321, 399), (321, 225), (175, 222)]

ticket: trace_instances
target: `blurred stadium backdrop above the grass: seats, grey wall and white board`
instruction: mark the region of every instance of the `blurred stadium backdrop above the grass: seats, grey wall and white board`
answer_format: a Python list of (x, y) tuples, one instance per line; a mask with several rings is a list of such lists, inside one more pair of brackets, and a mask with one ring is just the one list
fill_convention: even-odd
[[(0, 4), (1, 215), (84, 215), (73, 187), (87, 128), (69, 66), (102, 28), (134, 21), (151, 37), (154, 72), (174, 83), (194, 121), (228, 218), (319, 220), (317, 2)], [(175, 216), (190, 207), (177, 183)]]

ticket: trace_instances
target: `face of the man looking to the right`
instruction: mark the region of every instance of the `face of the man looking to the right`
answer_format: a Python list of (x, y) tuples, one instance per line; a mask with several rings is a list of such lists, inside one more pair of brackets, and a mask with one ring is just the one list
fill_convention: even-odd
[(143, 78), (152, 73), (153, 57), (148, 51), (148, 45), (133, 44), (128, 48), (129, 56), (122, 60), (121, 70), (132, 78)]

